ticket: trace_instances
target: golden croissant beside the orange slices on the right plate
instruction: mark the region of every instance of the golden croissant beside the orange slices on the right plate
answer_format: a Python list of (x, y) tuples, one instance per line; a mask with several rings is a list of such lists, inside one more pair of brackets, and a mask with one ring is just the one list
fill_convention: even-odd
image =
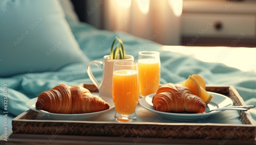
[(199, 113), (206, 109), (204, 100), (182, 84), (168, 83), (159, 87), (152, 103), (156, 110), (161, 112)]

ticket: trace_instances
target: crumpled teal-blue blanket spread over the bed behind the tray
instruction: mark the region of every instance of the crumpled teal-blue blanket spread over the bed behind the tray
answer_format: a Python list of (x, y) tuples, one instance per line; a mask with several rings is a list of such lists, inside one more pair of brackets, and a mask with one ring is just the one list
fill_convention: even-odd
[[(110, 47), (115, 36), (124, 42), (126, 54), (133, 55), (137, 61), (139, 51), (158, 51), (161, 59), (161, 83), (178, 83), (191, 74), (204, 77), (208, 85), (234, 85), (247, 105), (256, 104), (256, 68), (254, 72), (243, 72), (236, 68), (228, 67), (221, 63), (207, 63), (199, 61), (192, 56), (181, 53), (161, 50), (162, 45), (145, 40), (123, 32), (98, 30), (88, 24), (71, 24), (76, 31), (76, 37), (82, 51), (92, 60), (103, 60), (104, 55), (110, 53)], [(113, 34), (112, 34), (113, 33)], [(113, 37), (112, 37), (112, 36)], [(109, 40), (110, 39), (110, 40)], [(108, 41), (108, 42), (107, 42)], [(28, 110), (25, 103), (46, 90), (62, 83), (73, 86), (81, 82), (91, 82), (87, 74), (88, 61), (67, 65), (56, 72), (41, 72), (28, 70), (30, 73), (0, 78), (1, 120), (4, 111), (4, 84), (8, 84), (8, 130), (11, 128), (11, 119)], [(100, 82), (102, 70), (93, 68), (94, 76)], [(71, 75), (72, 74), (72, 75)], [(72, 77), (70, 77), (72, 76)], [(250, 109), (256, 120), (256, 109)], [(3, 125), (1, 129), (3, 130)]]

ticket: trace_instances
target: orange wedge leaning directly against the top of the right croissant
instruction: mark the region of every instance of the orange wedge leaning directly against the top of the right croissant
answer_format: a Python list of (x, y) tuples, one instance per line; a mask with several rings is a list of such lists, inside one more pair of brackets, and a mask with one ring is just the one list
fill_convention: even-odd
[(188, 87), (194, 95), (201, 95), (201, 88), (197, 80), (193, 76), (189, 76), (185, 82), (185, 86)]

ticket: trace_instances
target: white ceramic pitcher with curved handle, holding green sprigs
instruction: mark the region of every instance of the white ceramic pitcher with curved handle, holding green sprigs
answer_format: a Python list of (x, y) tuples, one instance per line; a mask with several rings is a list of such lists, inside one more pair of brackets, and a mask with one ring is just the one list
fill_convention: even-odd
[[(117, 58), (120, 58), (119, 55), (117, 56)], [(110, 55), (105, 55), (103, 57), (103, 62), (95, 60), (95, 61), (91, 61), (88, 64), (87, 73), (91, 81), (93, 82), (93, 84), (98, 88), (99, 96), (112, 98), (113, 67), (114, 67), (114, 62), (119, 62), (119, 61), (134, 61), (134, 57), (132, 55), (126, 54), (125, 59), (110, 59)], [(100, 84), (92, 74), (91, 66), (93, 64), (101, 68), (103, 66), (103, 76)]]

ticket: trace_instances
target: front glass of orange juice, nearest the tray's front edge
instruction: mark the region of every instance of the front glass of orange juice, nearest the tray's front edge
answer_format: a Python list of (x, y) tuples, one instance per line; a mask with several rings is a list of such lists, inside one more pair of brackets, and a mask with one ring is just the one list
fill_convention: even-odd
[(115, 62), (113, 69), (112, 97), (115, 106), (115, 120), (136, 121), (135, 109), (139, 99), (138, 64), (136, 62)]

